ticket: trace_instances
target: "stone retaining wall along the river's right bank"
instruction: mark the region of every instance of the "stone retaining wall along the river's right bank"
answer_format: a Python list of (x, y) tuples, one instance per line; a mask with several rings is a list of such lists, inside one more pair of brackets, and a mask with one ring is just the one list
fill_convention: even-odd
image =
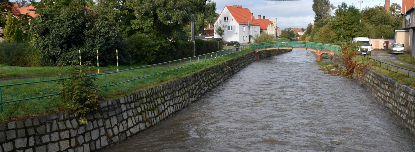
[[(332, 63), (344, 69), (341, 56), (334, 55)], [(366, 69), (362, 74), (354, 72), (352, 78), (415, 132), (415, 91), (412, 88), (396, 83), (371, 69)]]

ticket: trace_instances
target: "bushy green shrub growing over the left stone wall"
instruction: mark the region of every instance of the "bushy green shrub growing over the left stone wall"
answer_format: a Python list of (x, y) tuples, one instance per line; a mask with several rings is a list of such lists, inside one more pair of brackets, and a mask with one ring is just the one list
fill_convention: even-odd
[[(73, 111), (73, 114), (79, 118), (81, 124), (88, 124), (88, 116), (90, 112), (97, 110), (102, 100), (98, 95), (98, 89), (95, 85), (97, 80), (94, 76), (86, 76), (83, 71), (89, 71), (92, 64), (90, 62), (83, 62), (84, 65), (80, 70), (78, 62), (74, 62), (69, 66), (69, 74), (66, 77), (70, 79), (65, 81), (65, 84), (61, 88), (62, 98), (68, 102), (69, 109)], [(61, 76), (63, 75), (63, 66), (61, 66)]]

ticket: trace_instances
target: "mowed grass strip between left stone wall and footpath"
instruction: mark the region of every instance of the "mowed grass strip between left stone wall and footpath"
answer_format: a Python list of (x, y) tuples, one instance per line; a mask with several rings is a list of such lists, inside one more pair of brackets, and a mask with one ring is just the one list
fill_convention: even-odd
[[(227, 52), (227, 51), (223, 51)], [(99, 88), (100, 96), (104, 97), (105, 100), (111, 100), (117, 97), (122, 97), (125, 95), (130, 95), (136, 93), (140, 90), (145, 90), (151, 88), (152, 86), (159, 85), (161, 83), (166, 83), (168, 81), (174, 81), (177, 78), (182, 78), (190, 74), (195, 73), (206, 69), (210, 66), (215, 66), (221, 64), (229, 59), (244, 55), (250, 52), (250, 50), (244, 50), (241, 52), (236, 52), (228, 54), (222, 57), (217, 57), (213, 59), (205, 60), (204, 57), (193, 57), (191, 59), (192, 65), (190, 63), (180, 61), (176, 64), (171, 64), (169, 67), (168, 64), (161, 65), (162, 67), (157, 66), (148, 66), (144, 68), (113, 72), (105, 75), (95, 75), (98, 80), (95, 84), (98, 86), (112, 85), (116, 83), (121, 83), (118, 85), (108, 86), (105, 91), (105, 87)], [(221, 53), (217, 53), (220, 55)], [(223, 53), (222, 53), (223, 55)], [(207, 55), (210, 57), (210, 55)], [(213, 53), (215, 57), (215, 53)], [(190, 62), (189, 60), (186, 60)], [(199, 62), (199, 63), (197, 63)], [(180, 68), (182, 66), (182, 68)], [(66, 67), (68, 69), (68, 67)], [(100, 67), (101, 69), (101, 67)], [(168, 71), (169, 69), (175, 69)], [(161, 73), (164, 72), (164, 73)], [(153, 76), (154, 73), (161, 73)], [(134, 77), (133, 77), (134, 74)], [(15, 83), (25, 83), (33, 81), (43, 81), (51, 79), (59, 79), (59, 76), (53, 77), (40, 77), (40, 78), (30, 78), (23, 80), (10, 80), (0, 82), (0, 85), (15, 84)], [(136, 80), (131, 81), (133, 78)], [(139, 78), (139, 79), (138, 79)], [(106, 82), (105, 82), (106, 80)], [(122, 83), (124, 81), (129, 81)], [(65, 81), (63, 81), (63, 84)], [(2, 101), (7, 102), (11, 100), (20, 100), (29, 97), (37, 97), (42, 95), (51, 95), (61, 92), (62, 81), (51, 81), (51, 82), (42, 82), (42, 83), (32, 83), (24, 85), (14, 85), (14, 86), (5, 86), (1, 87), (2, 92)], [(50, 97), (42, 97), (38, 99), (23, 100), (17, 102), (10, 102), (3, 104), (3, 112), (0, 112), (0, 122), (5, 123), (11, 120), (11, 118), (24, 119), (32, 116), (39, 116), (45, 114), (51, 114), (55, 112), (63, 112), (68, 110), (68, 103), (62, 100), (61, 95), (55, 95)]]

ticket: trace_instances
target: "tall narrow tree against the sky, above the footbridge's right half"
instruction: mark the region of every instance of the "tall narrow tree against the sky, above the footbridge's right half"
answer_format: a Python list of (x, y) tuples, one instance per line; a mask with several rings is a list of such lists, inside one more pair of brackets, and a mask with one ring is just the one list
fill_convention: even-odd
[(322, 27), (330, 21), (331, 12), (334, 6), (329, 0), (313, 0), (312, 10), (314, 11), (315, 26)]

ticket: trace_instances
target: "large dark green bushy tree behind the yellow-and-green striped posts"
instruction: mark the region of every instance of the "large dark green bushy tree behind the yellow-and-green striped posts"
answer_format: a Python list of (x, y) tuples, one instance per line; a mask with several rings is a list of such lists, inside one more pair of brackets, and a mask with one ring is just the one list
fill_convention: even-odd
[(115, 21), (86, 9), (85, 2), (41, 0), (35, 7), (39, 15), (31, 22), (31, 35), (45, 65), (68, 64), (78, 59), (78, 50), (84, 61), (95, 60), (99, 50), (100, 64), (105, 65), (115, 62), (116, 49), (123, 52)]

